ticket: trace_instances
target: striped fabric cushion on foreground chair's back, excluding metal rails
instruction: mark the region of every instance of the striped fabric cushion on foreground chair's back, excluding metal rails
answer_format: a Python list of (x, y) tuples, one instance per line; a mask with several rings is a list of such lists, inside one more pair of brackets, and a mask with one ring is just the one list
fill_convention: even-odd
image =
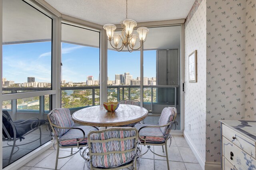
[[(106, 140), (110, 138), (126, 138), (136, 136), (135, 130), (113, 130), (102, 133), (94, 133), (90, 136), (91, 140)], [(104, 143), (91, 143), (92, 153), (106, 153), (111, 151), (124, 151), (135, 147), (135, 139), (124, 141), (108, 141)], [(126, 153), (112, 153), (106, 155), (92, 155), (92, 165), (94, 167), (111, 168), (129, 163), (134, 159), (135, 150)]]

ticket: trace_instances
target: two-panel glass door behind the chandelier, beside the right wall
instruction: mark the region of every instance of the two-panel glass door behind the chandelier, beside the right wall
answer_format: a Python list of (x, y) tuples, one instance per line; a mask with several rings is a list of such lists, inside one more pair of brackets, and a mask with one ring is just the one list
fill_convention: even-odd
[[(164, 107), (176, 107), (176, 130), (180, 130), (180, 29), (180, 26), (149, 28), (146, 42), (143, 44), (142, 64), (140, 51), (130, 53), (124, 48), (118, 52), (108, 41), (108, 101), (140, 101), (142, 85), (143, 107), (150, 114), (159, 114)], [(151, 118), (146, 118), (145, 123), (158, 123), (158, 120), (154, 119), (159, 117), (152, 120)]]

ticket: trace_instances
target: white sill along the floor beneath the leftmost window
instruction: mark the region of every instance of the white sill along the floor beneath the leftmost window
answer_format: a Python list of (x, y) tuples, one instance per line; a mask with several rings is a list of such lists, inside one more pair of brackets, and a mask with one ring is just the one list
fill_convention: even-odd
[(39, 148), (36, 148), (35, 150), (33, 150), (32, 152), (26, 154), (25, 156), (23, 156), (22, 158), (16, 160), (15, 162), (13, 162), (12, 164), (6, 166), (3, 170), (17, 170), (18, 168), (22, 167), (23, 165), (25, 165), (26, 163), (28, 163), (30, 160), (34, 159), (36, 156), (39, 156), (40, 154), (42, 154), (44, 151), (46, 151), (47, 149), (49, 149), (52, 146), (52, 142), (49, 141), (45, 144), (43, 144), (42, 146), (40, 146)]

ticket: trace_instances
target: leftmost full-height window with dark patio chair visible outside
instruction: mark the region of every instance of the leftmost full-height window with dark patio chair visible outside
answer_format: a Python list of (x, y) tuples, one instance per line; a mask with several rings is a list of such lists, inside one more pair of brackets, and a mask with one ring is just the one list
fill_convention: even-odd
[(45, 113), (52, 107), (52, 18), (22, 0), (2, 5), (5, 167), (50, 140)]

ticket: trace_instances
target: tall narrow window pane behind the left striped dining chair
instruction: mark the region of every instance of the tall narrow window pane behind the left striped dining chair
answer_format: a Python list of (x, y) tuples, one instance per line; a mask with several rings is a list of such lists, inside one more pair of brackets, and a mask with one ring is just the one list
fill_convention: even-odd
[(100, 33), (62, 23), (61, 105), (70, 110), (100, 104)]

